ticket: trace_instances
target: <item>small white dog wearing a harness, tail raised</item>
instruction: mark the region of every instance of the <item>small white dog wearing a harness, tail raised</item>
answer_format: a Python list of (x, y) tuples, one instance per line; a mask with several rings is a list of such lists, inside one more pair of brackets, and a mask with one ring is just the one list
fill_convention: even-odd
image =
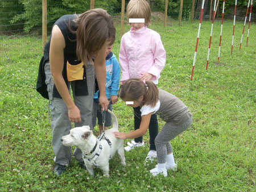
[(109, 177), (109, 160), (117, 152), (121, 163), (125, 163), (125, 152), (123, 150), (123, 140), (114, 136), (113, 132), (118, 131), (118, 122), (115, 114), (108, 110), (114, 118), (113, 128), (105, 131), (105, 136), (101, 140), (97, 139), (90, 131), (89, 126), (75, 127), (71, 129), (69, 135), (61, 137), (61, 142), (65, 146), (75, 145), (81, 149), (86, 169), (94, 176), (93, 168), (100, 168)]

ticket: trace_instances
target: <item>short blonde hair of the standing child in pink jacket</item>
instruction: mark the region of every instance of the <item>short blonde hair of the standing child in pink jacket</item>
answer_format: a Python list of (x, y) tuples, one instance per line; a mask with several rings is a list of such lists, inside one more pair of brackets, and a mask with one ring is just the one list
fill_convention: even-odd
[(126, 8), (126, 17), (130, 18), (144, 18), (145, 26), (151, 24), (151, 9), (146, 0), (131, 0)]

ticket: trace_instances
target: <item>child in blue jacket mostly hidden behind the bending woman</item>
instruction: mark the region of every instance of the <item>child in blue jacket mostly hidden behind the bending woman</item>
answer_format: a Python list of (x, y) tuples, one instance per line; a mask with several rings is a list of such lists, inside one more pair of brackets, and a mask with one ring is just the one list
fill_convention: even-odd
[[(119, 90), (119, 81), (120, 81), (120, 66), (112, 52), (113, 45), (108, 46), (108, 51), (106, 52), (106, 97), (109, 99), (110, 104), (108, 109), (112, 111), (112, 105), (118, 101), (118, 90)], [(102, 125), (102, 113), (98, 110), (98, 98), (99, 91), (94, 94), (93, 101), (93, 128), (96, 126), (96, 119), (98, 118), (98, 135), (101, 135), (103, 130)], [(106, 122), (105, 127), (112, 125), (112, 118), (108, 111), (106, 111)]]

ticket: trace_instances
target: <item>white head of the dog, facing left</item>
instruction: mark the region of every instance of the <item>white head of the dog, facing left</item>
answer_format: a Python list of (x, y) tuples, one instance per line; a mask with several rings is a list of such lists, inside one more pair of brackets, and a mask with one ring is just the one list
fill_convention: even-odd
[(61, 143), (65, 146), (83, 147), (92, 136), (89, 126), (75, 127), (70, 130), (69, 135), (61, 137)]

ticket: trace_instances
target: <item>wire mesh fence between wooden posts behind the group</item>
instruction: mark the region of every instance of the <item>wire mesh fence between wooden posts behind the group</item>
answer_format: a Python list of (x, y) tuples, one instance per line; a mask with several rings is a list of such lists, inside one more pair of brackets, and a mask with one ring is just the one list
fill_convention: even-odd
[[(43, 0), (46, 1), (46, 0)], [(165, 0), (147, 0), (152, 12), (164, 14)], [(90, 9), (90, 0), (47, 0), (47, 36), (52, 25), (65, 14), (81, 14)], [(125, 7), (129, 0), (125, 1)], [(170, 2), (170, 1), (169, 1)], [(183, 18), (189, 18), (192, 1), (185, 1)], [(187, 3), (187, 4), (186, 4)], [(94, 8), (102, 8), (110, 15), (121, 17), (122, 0), (94, 1)], [(168, 16), (179, 17), (179, 2), (168, 4)], [(116, 22), (119, 24), (120, 22)], [(15, 55), (31, 57), (31, 50), (42, 54), (42, 0), (0, 0), (0, 62)], [(34, 57), (34, 56), (32, 56)]]

